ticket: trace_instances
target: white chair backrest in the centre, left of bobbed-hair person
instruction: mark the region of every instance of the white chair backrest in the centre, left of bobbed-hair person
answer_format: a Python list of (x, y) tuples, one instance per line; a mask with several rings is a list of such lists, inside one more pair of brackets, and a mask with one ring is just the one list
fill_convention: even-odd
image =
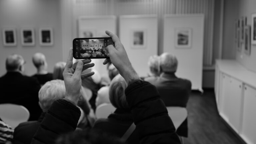
[(103, 103), (97, 106), (96, 108), (96, 117), (97, 118), (108, 118), (111, 113), (114, 113), (116, 108), (112, 104)]

